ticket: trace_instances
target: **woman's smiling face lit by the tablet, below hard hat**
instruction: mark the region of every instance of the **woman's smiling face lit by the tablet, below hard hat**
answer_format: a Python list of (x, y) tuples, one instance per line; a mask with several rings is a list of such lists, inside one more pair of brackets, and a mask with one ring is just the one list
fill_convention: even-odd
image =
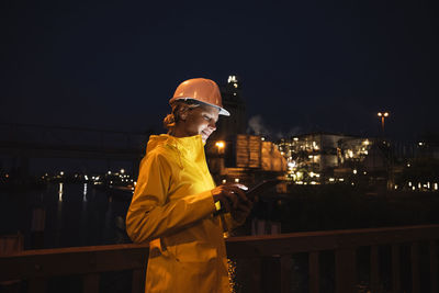
[(201, 134), (201, 138), (205, 143), (209, 136), (216, 129), (218, 113), (218, 109), (204, 104), (188, 110), (182, 116), (187, 135)]

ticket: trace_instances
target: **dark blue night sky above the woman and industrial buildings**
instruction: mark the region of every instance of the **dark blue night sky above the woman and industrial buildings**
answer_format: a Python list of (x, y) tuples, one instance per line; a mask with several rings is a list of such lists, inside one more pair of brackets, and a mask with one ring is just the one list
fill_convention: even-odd
[(0, 123), (161, 132), (179, 82), (236, 75), (273, 136), (439, 133), (432, 3), (108, 2), (1, 1)]

